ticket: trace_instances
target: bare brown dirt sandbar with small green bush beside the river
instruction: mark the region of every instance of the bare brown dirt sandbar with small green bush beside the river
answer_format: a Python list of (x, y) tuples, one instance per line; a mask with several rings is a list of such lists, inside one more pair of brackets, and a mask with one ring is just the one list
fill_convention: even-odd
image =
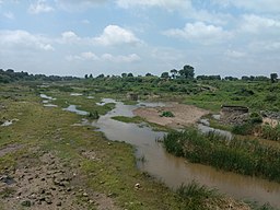
[[(160, 115), (163, 112), (172, 112), (174, 117), (161, 117)], [(209, 114), (209, 112), (192, 105), (167, 103), (165, 107), (140, 107), (135, 109), (133, 114), (150, 122), (171, 128), (184, 128), (195, 124), (200, 117)]]

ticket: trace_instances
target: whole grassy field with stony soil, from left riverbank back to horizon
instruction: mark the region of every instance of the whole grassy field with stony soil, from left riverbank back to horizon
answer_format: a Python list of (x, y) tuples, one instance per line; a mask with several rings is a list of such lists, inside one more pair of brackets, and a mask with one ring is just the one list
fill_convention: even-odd
[[(107, 86), (106, 82), (112, 85)], [(170, 83), (189, 91), (173, 92), (167, 90)], [(151, 82), (122, 80), (42, 84), (23, 82), (0, 86), (1, 124), (12, 120), (12, 125), (0, 127), (0, 209), (270, 209), (269, 206), (250, 207), (197, 183), (172, 190), (137, 170), (131, 145), (108, 141), (91, 125), (81, 126), (82, 118), (94, 120), (90, 116), (62, 109), (74, 104), (78, 109), (104, 115), (115, 104), (96, 105), (102, 98), (131, 104), (126, 93), (137, 92), (142, 100), (176, 101), (217, 112), (221, 103), (237, 104), (240, 101), (231, 95), (243, 89), (240, 85), (246, 85), (246, 90), (253, 89), (258, 97), (254, 96), (253, 102), (253, 96), (240, 96), (243, 103), (249, 102), (254, 110), (264, 107), (276, 110), (279, 93), (271, 92), (277, 100), (267, 101), (265, 95), (271, 88), (268, 83), (230, 82), (223, 93), (219, 93), (225, 85), (223, 81), (203, 84), (211, 86), (206, 91), (200, 90), (202, 84), (197, 82), (177, 84), (175, 81), (174, 84), (162, 81), (154, 86)], [(279, 89), (279, 84), (272, 88)], [(56, 98), (49, 103), (58, 107), (44, 107), (39, 94)], [(207, 100), (208, 104), (200, 103)], [(141, 122), (144, 119), (120, 117), (119, 120)]]

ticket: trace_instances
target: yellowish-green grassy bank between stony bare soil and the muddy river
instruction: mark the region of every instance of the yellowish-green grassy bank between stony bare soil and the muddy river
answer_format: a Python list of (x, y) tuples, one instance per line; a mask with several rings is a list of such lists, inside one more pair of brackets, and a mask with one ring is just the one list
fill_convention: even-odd
[[(185, 207), (176, 192), (136, 168), (135, 149), (131, 145), (124, 142), (108, 144), (104, 136), (92, 131), (91, 127), (71, 126), (80, 121), (81, 116), (61, 108), (43, 107), (33, 92), (19, 97), (1, 98), (7, 106), (4, 117), (19, 118), (15, 124), (1, 129), (1, 145), (13, 142), (27, 148), (1, 156), (0, 172), (7, 166), (16, 168), (23, 155), (33, 156), (35, 154), (31, 149), (39, 148), (55, 151), (66, 164), (79, 168), (80, 185), (89, 190), (114, 195), (114, 201), (121, 209), (176, 210)], [(101, 161), (82, 156), (81, 150), (94, 151)], [(135, 189), (136, 183), (141, 184), (141, 189)]]

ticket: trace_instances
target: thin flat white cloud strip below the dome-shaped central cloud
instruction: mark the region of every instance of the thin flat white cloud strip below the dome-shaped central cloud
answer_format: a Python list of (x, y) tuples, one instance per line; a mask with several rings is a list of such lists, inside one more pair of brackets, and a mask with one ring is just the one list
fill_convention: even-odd
[(98, 60), (98, 61), (110, 61), (110, 62), (135, 62), (141, 60), (141, 58), (136, 54), (130, 54), (127, 56), (113, 56), (112, 54), (103, 54), (100, 57), (93, 54), (92, 51), (81, 52), (80, 55), (67, 56), (67, 60)]

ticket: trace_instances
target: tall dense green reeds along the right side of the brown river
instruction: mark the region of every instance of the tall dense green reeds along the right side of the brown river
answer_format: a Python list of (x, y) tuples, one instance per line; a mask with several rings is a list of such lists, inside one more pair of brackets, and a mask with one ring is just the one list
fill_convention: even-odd
[(254, 175), (280, 183), (280, 150), (257, 140), (202, 135), (196, 129), (170, 132), (164, 137), (166, 150), (191, 162), (224, 171)]

